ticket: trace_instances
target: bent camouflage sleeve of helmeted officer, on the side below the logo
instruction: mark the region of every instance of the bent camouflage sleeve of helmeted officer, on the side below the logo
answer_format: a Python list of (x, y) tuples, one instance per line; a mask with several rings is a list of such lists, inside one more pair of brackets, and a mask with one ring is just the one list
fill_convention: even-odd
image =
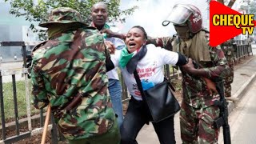
[(214, 62), (214, 66), (204, 68), (208, 78), (225, 78), (230, 74), (230, 67), (227, 65), (226, 58), (220, 46), (210, 47), (210, 58)]

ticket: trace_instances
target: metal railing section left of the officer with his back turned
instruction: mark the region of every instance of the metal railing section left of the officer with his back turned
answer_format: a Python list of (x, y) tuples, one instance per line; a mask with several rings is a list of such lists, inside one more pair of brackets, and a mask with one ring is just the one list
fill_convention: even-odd
[[(6, 69), (2, 70), (0, 65), (0, 104), (1, 104), (1, 120), (2, 120), (2, 140), (0, 140), (0, 143), (12, 143), (12, 142), (18, 142), (22, 139), (29, 138), (33, 135), (42, 133), (42, 126), (43, 126), (43, 111), (40, 110), (40, 127), (39, 128), (32, 128), (32, 118), (31, 118), (31, 110), (30, 110), (30, 87), (29, 87), (29, 81), (28, 81), (28, 69), (26, 68), (26, 46), (34, 46), (38, 44), (39, 42), (0, 42), (0, 49), (2, 46), (22, 46), (22, 55), (23, 55), (23, 68), (20, 69)], [(26, 120), (27, 120), (27, 127), (28, 131), (21, 133), (20, 132), (20, 123), (18, 118), (18, 102), (17, 102), (17, 89), (16, 89), (16, 78), (15, 76), (18, 74), (22, 74), (24, 76), (24, 82), (25, 82), (25, 90), (26, 90)], [(4, 106), (6, 103), (4, 103), (4, 93), (3, 93), (3, 82), (2, 77), (11, 77), (12, 78), (12, 86), (13, 86), (13, 101), (14, 101), (14, 123), (15, 123), (15, 135), (7, 138), (6, 134), (6, 118), (5, 118), (5, 110)], [(10, 95), (8, 95), (10, 97)], [(54, 123), (53, 118), (51, 118), (51, 123)], [(52, 143), (58, 143), (58, 139), (56, 139), (57, 133), (57, 127), (55, 125), (52, 126), (52, 124), (49, 125), (49, 130), (51, 130), (52, 134)]]

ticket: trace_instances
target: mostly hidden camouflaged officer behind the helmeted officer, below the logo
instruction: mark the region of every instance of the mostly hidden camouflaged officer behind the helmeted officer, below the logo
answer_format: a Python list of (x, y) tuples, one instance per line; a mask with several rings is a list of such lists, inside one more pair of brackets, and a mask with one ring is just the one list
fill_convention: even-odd
[(224, 91), (226, 97), (231, 97), (231, 83), (233, 82), (234, 79), (234, 45), (235, 42), (233, 38), (222, 43), (221, 45), (228, 66), (230, 66), (230, 75), (228, 75), (224, 80)]

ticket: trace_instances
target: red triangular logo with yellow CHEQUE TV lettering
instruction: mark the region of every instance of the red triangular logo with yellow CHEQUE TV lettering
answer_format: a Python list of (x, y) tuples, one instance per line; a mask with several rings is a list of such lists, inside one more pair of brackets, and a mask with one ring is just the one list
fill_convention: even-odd
[(241, 14), (220, 2), (210, 2), (210, 46), (218, 46), (238, 34), (253, 34), (254, 14)]

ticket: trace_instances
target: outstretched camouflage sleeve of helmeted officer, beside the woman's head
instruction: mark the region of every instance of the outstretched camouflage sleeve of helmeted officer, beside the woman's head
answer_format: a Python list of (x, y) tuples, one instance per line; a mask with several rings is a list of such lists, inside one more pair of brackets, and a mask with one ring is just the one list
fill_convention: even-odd
[(149, 37), (146, 41), (147, 44), (153, 44), (154, 46), (160, 46), (166, 50), (172, 50), (173, 37), (162, 37), (162, 38), (152, 38)]

